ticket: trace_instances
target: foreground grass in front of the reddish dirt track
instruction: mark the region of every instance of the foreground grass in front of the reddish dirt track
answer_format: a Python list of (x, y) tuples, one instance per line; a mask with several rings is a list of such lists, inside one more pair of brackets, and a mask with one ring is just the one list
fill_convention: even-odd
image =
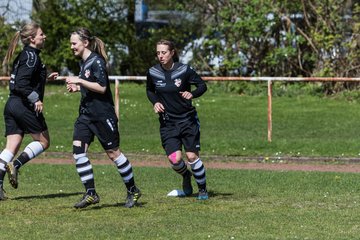
[(98, 205), (76, 210), (74, 166), (28, 164), (19, 188), (6, 181), (1, 239), (358, 239), (357, 174), (208, 170), (210, 200), (174, 198), (168, 168), (134, 169), (141, 207), (126, 209), (115, 166), (95, 165)]

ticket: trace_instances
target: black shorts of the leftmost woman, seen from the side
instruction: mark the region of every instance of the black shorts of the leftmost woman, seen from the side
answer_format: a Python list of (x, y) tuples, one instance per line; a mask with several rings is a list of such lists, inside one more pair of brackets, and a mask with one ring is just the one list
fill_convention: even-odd
[(4, 108), (5, 136), (12, 134), (41, 133), (47, 125), (44, 115), (36, 113), (32, 106), (19, 97), (9, 97)]

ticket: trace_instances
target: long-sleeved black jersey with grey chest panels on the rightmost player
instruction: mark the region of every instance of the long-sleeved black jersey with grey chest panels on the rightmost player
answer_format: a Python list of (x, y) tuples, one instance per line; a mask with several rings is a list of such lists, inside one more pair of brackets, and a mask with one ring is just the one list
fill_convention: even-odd
[[(191, 85), (196, 86), (192, 91)], [(176, 62), (171, 70), (165, 70), (157, 64), (147, 74), (147, 96), (152, 104), (160, 102), (164, 105), (170, 120), (186, 119), (196, 113), (192, 101), (184, 99), (180, 92), (191, 92), (193, 98), (197, 98), (206, 90), (205, 82), (187, 64)]]

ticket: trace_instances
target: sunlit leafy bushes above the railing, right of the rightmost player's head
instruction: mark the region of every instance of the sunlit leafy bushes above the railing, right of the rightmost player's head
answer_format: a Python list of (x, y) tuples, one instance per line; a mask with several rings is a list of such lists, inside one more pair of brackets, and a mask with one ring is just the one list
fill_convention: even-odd
[[(356, 76), (359, 3), (349, 0), (202, 0), (203, 36), (192, 63), (212, 74)], [(203, 10), (205, 9), (205, 11)], [(217, 66), (208, 63), (220, 59)]]

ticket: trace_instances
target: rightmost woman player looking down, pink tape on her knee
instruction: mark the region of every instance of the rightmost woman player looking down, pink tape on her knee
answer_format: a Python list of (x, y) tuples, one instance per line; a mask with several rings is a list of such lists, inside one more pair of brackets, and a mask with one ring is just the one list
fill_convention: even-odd
[[(146, 93), (159, 114), (162, 145), (172, 168), (183, 177), (185, 195), (193, 193), (193, 174), (199, 188), (197, 198), (207, 200), (205, 167), (199, 157), (200, 123), (191, 103), (191, 99), (205, 93), (206, 84), (190, 66), (178, 62), (173, 42), (160, 40), (156, 55), (160, 63), (148, 71)], [(191, 85), (196, 86), (193, 91)], [(192, 174), (182, 159), (182, 147)]]

